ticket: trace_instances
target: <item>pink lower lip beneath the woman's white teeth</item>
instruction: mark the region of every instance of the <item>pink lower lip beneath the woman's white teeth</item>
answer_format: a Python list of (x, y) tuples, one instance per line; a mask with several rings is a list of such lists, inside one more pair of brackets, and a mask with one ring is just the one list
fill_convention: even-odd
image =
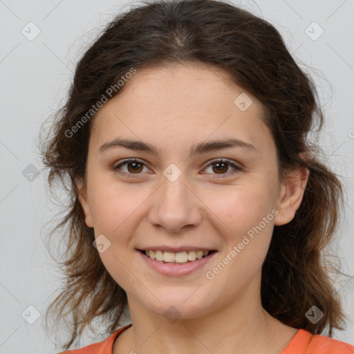
[(208, 254), (207, 257), (203, 257), (201, 259), (196, 259), (195, 261), (190, 261), (187, 263), (163, 263), (161, 261), (156, 261), (155, 259), (151, 259), (147, 257), (144, 253), (137, 251), (142, 257), (143, 261), (149, 265), (153, 270), (157, 272), (169, 275), (169, 276), (180, 276), (187, 275), (195, 270), (203, 268), (211, 259), (214, 258), (217, 252), (213, 252)]

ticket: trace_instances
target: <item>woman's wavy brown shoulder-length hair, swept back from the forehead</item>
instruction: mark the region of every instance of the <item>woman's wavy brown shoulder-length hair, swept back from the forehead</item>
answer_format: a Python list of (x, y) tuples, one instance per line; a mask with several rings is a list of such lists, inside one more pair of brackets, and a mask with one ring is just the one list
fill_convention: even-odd
[[(85, 178), (95, 115), (75, 132), (72, 127), (131, 68), (138, 71), (188, 62), (222, 68), (235, 84), (261, 101), (263, 119), (277, 146), (280, 178), (299, 166), (310, 171), (295, 218), (274, 227), (262, 268), (263, 308), (283, 324), (311, 333), (322, 333), (327, 326), (331, 336), (333, 328), (343, 329), (345, 317), (330, 278), (330, 271), (339, 268), (324, 253), (337, 231), (343, 187), (319, 161), (320, 150), (308, 139), (324, 120), (315, 84), (268, 21), (232, 3), (142, 1), (115, 17), (84, 53), (68, 100), (50, 123), (49, 137), (41, 142), (44, 165), (49, 168), (48, 185), (53, 189), (55, 182), (61, 182), (69, 195), (66, 214), (53, 229), (53, 233), (61, 230), (59, 239), (66, 242), (64, 260), (58, 262), (65, 284), (46, 313), (55, 326), (71, 315), (66, 321), (71, 338), (64, 349), (97, 318), (102, 319), (106, 332), (113, 333), (121, 326), (127, 305), (126, 293), (93, 247), (93, 228), (86, 226), (75, 185)], [(129, 82), (115, 95), (127, 86)], [(313, 305), (324, 313), (317, 324), (305, 316)]]

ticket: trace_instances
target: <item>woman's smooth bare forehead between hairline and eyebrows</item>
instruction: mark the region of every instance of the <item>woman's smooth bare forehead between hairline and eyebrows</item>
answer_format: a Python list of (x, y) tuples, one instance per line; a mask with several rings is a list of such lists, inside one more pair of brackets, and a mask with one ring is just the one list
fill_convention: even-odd
[(267, 133), (259, 100), (220, 68), (142, 68), (125, 85), (97, 112), (91, 133), (97, 143), (125, 135), (149, 142), (158, 136), (165, 142), (191, 140), (193, 145), (192, 140), (224, 138), (225, 133), (254, 142), (257, 133)]

